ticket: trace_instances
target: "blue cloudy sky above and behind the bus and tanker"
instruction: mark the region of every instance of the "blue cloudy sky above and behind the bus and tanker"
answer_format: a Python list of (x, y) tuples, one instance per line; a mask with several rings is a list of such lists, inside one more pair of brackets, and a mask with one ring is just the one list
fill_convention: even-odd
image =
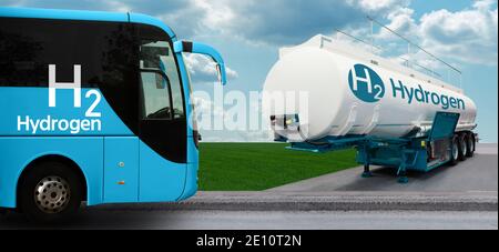
[[(464, 72), (485, 142), (498, 141), (496, 0), (0, 0), (1, 6), (132, 11), (155, 16), (182, 39), (213, 44), (231, 68), (230, 90), (262, 90), (278, 48), (335, 29), (369, 40), (365, 17), (404, 33)], [(399, 44), (376, 31), (376, 43)], [(205, 61), (191, 59), (195, 90), (213, 90)], [(421, 61), (426, 62), (426, 61)], [(437, 65), (438, 67), (438, 65)], [(206, 141), (262, 141), (266, 132), (206, 131)]]

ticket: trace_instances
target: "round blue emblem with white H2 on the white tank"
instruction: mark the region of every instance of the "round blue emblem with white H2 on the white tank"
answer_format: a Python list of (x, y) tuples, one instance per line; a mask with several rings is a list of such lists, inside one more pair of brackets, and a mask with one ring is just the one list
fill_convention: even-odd
[(385, 83), (373, 69), (356, 64), (348, 74), (352, 92), (365, 102), (378, 102), (385, 97)]

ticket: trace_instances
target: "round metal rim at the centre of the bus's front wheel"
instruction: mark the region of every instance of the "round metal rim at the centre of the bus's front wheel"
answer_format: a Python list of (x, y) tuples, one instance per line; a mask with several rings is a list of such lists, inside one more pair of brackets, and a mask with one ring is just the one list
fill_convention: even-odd
[(34, 189), (34, 202), (44, 213), (64, 211), (71, 198), (69, 183), (59, 177), (43, 178)]

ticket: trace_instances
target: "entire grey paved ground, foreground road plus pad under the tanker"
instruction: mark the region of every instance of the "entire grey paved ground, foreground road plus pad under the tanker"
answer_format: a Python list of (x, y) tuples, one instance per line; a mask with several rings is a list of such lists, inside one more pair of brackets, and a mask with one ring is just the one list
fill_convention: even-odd
[[(481, 144), (473, 159), (427, 174), (410, 173), (408, 184), (398, 184), (388, 169), (376, 169), (371, 179), (360, 179), (361, 169), (353, 169), (265, 192), (202, 192), (173, 208), (85, 208), (71, 222), (55, 226), (30, 224), (22, 215), (10, 213), (0, 218), (0, 229), (497, 230), (497, 144)], [(269, 205), (274, 209), (266, 210)], [(405, 209), (407, 205), (410, 208)]]

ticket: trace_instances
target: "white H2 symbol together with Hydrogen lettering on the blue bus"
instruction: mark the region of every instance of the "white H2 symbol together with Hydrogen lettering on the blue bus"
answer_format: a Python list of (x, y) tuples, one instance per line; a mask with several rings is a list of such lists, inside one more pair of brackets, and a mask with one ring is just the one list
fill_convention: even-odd
[[(70, 134), (79, 134), (81, 132), (94, 132), (102, 130), (101, 112), (96, 112), (102, 94), (96, 90), (89, 90), (85, 93), (85, 99), (92, 99), (90, 107), (84, 112), (84, 119), (81, 119), (78, 109), (82, 107), (81, 99), (81, 65), (73, 65), (74, 81), (73, 83), (63, 83), (55, 81), (55, 65), (49, 65), (49, 109), (57, 108), (57, 90), (72, 90), (73, 91), (73, 109), (71, 112), (75, 118), (53, 118), (50, 114), (42, 118), (32, 118), (30, 115), (18, 115), (18, 131), (26, 131), (31, 134), (40, 132), (62, 132)], [(65, 108), (64, 108), (65, 109)], [(50, 111), (50, 110), (49, 110)]]

